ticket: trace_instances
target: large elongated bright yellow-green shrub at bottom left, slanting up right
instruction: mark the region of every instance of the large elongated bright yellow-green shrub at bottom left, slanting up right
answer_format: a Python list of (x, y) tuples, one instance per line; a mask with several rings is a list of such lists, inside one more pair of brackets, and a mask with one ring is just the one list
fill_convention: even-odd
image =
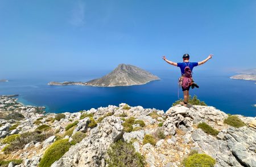
[(39, 167), (49, 167), (53, 162), (59, 160), (65, 152), (71, 147), (68, 139), (61, 139), (54, 142), (43, 155), (42, 160), (39, 162)]

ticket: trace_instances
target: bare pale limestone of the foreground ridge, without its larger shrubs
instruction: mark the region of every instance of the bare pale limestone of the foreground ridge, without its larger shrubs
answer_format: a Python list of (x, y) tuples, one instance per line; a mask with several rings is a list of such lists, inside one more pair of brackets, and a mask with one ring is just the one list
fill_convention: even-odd
[[(3, 102), (15, 102), (10, 97), (1, 97)], [(15, 104), (17, 105), (17, 104)], [(16, 106), (9, 106), (15, 108)], [(15, 109), (24, 118), (0, 119), (0, 133), (7, 132), (5, 136), (13, 134), (10, 127), (16, 131), (14, 134), (36, 131), (39, 126), (48, 125), (48, 136), (42, 142), (31, 141), (23, 148), (11, 153), (4, 153), (3, 148), (7, 144), (0, 144), (1, 160), (22, 159), (22, 163), (15, 165), (10, 162), (9, 166), (38, 166), (47, 148), (59, 138), (68, 139), (72, 142), (76, 132), (86, 134), (81, 142), (72, 145), (69, 150), (51, 166), (106, 166), (108, 159), (107, 150), (109, 145), (117, 140), (132, 142), (135, 150), (141, 153), (146, 159), (146, 166), (182, 166), (182, 160), (191, 150), (200, 153), (207, 153), (216, 160), (215, 166), (256, 166), (256, 120), (255, 117), (243, 117), (237, 115), (246, 126), (235, 128), (224, 123), (227, 114), (212, 106), (195, 105), (193, 108), (176, 105), (164, 113), (163, 110), (144, 109), (142, 106), (119, 106), (109, 105), (98, 109), (84, 110), (77, 113), (63, 113), (64, 117), (56, 118), (57, 114), (48, 113), (43, 115), (32, 111), (29, 107), (26, 110)], [(8, 108), (7, 108), (8, 109)], [(34, 109), (33, 109), (34, 110)], [(1, 109), (1, 114), (7, 112)], [(154, 113), (154, 114), (153, 114)], [(92, 115), (81, 117), (82, 115)], [(123, 127), (124, 118), (134, 117), (142, 120), (144, 126), (131, 132), (125, 132)], [(97, 121), (96, 126), (90, 126), (92, 120)], [(38, 121), (38, 123), (35, 123)], [(73, 127), (73, 132), (66, 134), (65, 127), (77, 121)], [(217, 136), (206, 134), (197, 128), (198, 123), (205, 122), (220, 131)], [(162, 123), (162, 127), (159, 127)], [(138, 124), (133, 125), (138, 127)], [(144, 136), (162, 131), (164, 138), (157, 139), (155, 145), (143, 144)]]

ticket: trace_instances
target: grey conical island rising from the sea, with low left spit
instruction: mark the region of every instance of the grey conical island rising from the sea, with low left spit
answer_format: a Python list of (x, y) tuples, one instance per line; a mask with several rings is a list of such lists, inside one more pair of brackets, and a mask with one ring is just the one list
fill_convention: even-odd
[(120, 64), (109, 74), (88, 82), (49, 82), (48, 85), (89, 85), (94, 87), (116, 87), (141, 85), (159, 80), (160, 78), (150, 72), (133, 65)]

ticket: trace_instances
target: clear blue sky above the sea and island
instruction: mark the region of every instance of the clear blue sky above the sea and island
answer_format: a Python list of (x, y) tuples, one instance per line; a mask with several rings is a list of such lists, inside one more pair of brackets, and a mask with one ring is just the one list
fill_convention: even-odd
[(119, 63), (202, 70), (256, 67), (255, 0), (0, 0), (0, 78), (29, 71), (109, 70)]

